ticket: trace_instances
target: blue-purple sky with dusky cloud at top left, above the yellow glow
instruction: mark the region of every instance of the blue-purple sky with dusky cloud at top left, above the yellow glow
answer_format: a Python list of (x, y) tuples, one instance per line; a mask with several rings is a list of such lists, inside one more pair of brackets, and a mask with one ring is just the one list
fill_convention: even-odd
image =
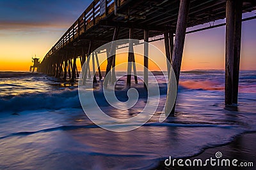
[(91, 1), (1, 0), (0, 30), (68, 28)]

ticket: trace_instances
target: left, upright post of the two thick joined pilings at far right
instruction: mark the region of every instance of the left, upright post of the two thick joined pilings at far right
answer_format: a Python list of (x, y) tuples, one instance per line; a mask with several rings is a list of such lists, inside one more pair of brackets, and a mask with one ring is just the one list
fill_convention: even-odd
[(232, 104), (234, 68), (235, 2), (226, 3), (225, 104)]

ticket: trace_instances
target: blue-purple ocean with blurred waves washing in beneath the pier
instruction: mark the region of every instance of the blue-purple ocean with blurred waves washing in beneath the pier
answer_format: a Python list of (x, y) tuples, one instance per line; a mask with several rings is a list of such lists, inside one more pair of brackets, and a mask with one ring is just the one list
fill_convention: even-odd
[[(86, 117), (77, 85), (41, 73), (0, 72), (0, 169), (152, 169), (169, 156), (190, 157), (256, 131), (256, 71), (240, 72), (237, 110), (224, 109), (224, 71), (183, 71), (175, 115), (163, 123), (166, 84), (155, 75), (161, 87), (155, 115), (133, 131), (111, 132)], [(118, 83), (125, 86), (122, 78)], [(129, 110), (101, 108), (129, 118), (145, 103), (142, 96)]]

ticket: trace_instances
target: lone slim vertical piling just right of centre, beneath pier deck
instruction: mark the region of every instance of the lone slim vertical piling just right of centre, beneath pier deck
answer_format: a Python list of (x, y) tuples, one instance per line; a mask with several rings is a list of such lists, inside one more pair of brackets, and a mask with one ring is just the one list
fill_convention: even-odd
[(144, 87), (148, 86), (148, 30), (144, 30)]

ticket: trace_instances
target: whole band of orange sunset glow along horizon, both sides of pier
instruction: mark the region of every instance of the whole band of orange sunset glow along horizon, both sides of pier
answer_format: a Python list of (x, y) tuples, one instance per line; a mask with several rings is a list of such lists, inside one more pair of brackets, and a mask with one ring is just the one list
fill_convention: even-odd
[[(247, 26), (248, 24), (250, 27)], [(251, 29), (253, 24), (256, 25), (253, 21), (243, 24), (241, 70), (255, 69), (256, 34), (246, 33), (246, 30)], [(35, 57), (36, 54), (36, 57), (42, 60), (45, 53), (62, 35), (63, 30), (49, 29), (45, 31), (41, 29), (39, 32), (34, 32), (32, 29), (28, 32), (15, 32), (0, 29), (0, 71), (29, 71), (29, 66), (33, 65), (31, 62), (32, 55)], [(163, 41), (156, 41), (152, 45), (157, 46), (165, 53)], [(142, 49), (143, 46), (140, 48)], [(150, 55), (154, 55), (154, 53), (150, 53)], [(127, 54), (117, 55), (116, 65), (127, 62), (127, 56)], [(143, 56), (135, 56), (136, 62), (143, 64)], [(159, 66), (165, 71), (166, 60), (161, 61)], [(100, 67), (102, 71), (105, 71), (106, 63)], [(159, 70), (151, 62), (149, 62), (149, 68), (152, 71)], [(225, 27), (196, 32), (186, 36), (181, 70), (193, 69), (225, 69)], [(125, 70), (127, 70), (127, 67), (122, 69), (122, 71)]]

